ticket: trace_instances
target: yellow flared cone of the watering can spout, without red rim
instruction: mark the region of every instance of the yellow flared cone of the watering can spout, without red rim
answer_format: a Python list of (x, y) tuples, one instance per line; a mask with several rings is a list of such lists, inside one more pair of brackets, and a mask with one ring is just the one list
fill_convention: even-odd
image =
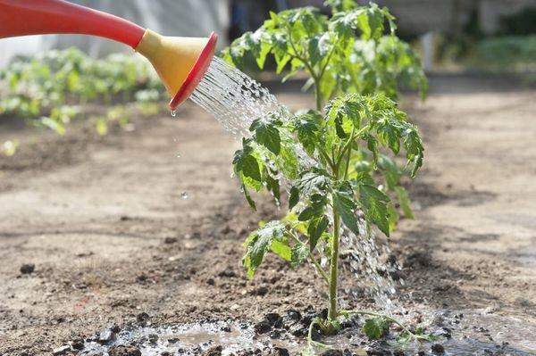
[(166, 37), (147, 29), (135, 50), (145, 56), (163, 81), (170, 96), (175, 96), (205, 48), (200, 37)]

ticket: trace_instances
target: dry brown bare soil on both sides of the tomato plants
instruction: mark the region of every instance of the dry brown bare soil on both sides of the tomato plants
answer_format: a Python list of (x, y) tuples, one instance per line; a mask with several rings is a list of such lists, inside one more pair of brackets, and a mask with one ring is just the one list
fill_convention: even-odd
[[(405, 102), (426, 146), (417, 219), (390, 243), (406, 304), (536, 319), (536, 91), (436, 77), (426, 103)], [(237, 144), (215, 120), (188, 105), (135, 123), (105, 138), (1, 129), (23, 145), (0, 158), (0, 354), (47, 354), (141, 312), (176, 323), (323, 305), (310, 269), (276, 259), (246, 283), (241, 242), (278, 211), (248, 210), (230, 178)]]

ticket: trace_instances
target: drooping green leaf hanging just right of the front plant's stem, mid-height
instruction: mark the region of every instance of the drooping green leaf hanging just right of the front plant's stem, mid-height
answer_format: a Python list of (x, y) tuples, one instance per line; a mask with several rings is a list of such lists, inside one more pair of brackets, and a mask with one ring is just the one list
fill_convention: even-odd
[(389, 196), (381, 193), (374, 186), (359, 186), (359, 202), (362, 205), (364, 216), (372, 221), (381, 232), (389, 236), (389, 212), (387, 204)]

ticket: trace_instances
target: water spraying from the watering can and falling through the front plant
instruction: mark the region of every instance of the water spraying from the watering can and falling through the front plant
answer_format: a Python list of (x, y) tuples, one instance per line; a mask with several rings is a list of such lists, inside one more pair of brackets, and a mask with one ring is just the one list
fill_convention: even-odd
[[(204, 79), (201, 80), (190, 99), (214, 115), (223, 127), (230, 130), (235, 137), (248, 137), (249, 126), (257, 118), (267, 117), (276, 112), (282, 120), (289, 120), (290, 112), (268, 89), (251, 79), (242, 71), (231, 67), (222, 59), (214, 57)], [(300, 163), (311, 166), (314, 161), (297, 146)], [(364, 222), (360, 230), (366, 231)], [(349, 268), (368, 280), (366, 290), (382, 310), (390, 314), (401, 310), (397, 302), (391, 300), (395, 293), (395, 282), (381, 262), (381, 255), (388, 253), (387, 246), (378, 247), (369, 236), (356, 236), (351, 231), (344, 231), (341, 237), (342, 249), (348, 251)], [(389, 272), (389, 271), (388, 271)], [(361, 280), (362, 278), (356, 278)], [(349, 289), (349, 294), (352, 294)]]

